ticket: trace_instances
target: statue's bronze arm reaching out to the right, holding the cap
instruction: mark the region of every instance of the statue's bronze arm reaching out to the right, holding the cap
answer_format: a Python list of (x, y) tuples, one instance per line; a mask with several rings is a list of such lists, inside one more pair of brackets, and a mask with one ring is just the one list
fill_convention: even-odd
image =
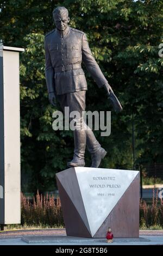
[(99, 68), (99, 65), (97, 64), (95, 58), (92, 55), (85, 33), (83, 34), (83, 37), (82, 37), (82, 59), (87, 70), (90, 72), (91, 76), (96, 81), (97, 86), (99, 88), (105, 87), (105, 89), (108, 91), (108, 94), (109, 94), (109, 90), (112, 90), (112, 89), (109, 86), (108, 81), (104, 77), (101, 69)]

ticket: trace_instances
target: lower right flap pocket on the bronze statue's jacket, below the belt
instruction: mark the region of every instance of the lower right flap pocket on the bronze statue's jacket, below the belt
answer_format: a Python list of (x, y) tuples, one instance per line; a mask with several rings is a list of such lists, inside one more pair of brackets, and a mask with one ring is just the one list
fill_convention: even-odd
[(80, 89), (83, 87), (87, 88), (86, 78), (83, 69), (73, 69), (72, 74), (75, 89)]

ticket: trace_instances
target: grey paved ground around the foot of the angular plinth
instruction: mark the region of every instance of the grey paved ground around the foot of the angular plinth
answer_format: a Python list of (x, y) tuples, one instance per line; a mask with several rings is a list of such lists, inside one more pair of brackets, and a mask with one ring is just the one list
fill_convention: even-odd
[(66, 236), (65, 229), (35, 229), (0, 231), (1, 245), (163, 245), (163, 230), (140, 230), (137, 239), (85, 239)]

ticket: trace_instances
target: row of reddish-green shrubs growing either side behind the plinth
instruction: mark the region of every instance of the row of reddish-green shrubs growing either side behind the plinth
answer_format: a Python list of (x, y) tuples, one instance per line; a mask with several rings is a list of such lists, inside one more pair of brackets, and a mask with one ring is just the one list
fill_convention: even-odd
[[(24, 227), (64, 227), (60, 198), (54, 196), (42, 196), (37, 191), (33, 203), (29, 202), (21, 193), (21, 224)], [(153, 227), (163, 228), (163, 200), (158, 202), (158, 191), (152, 204), (140, 200), (140, 228), (152, 229)]]

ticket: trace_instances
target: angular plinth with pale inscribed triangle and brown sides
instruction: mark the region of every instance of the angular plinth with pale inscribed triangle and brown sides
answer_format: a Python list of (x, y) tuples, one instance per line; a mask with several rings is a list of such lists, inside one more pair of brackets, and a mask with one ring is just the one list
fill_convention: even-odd
[[(58, 173), (57, 184), (64, 220), (66, 220), (66, 231), (69, 235), (74, 235), (72, 230), (74, 230), (74, 223), (77, 223), (77, 215), (80, 218), (80, 228), (76, 230), (77, 236), (104, 237), (105, 229), (107, 229), (106, 225), (111, 226), (109, 216), (114, 218), (112, 212), (115, 212), (116, 216), (112, 223), (121, 221), (121, 223), (129, 222), (129, 225), (131, 225), (132, 220), (135, 220), (133, 226), (137, 227), (137, 222), (139, 223), (139, 172), (74, 167)], [(133, 184), (135, 185), (133, 186)], [(133, 202), (135, 198), (136, 202)], [(71, 201), (71, 206), (65, 206), (67, 200)], [(123, 204), (120, 202), (123, 202)], [(125, 210), (125, 202), (130, 204), (128, 210)], [(117, 205), (121, 205), (121, 209)], [(70, 224), (70, 219), (72, 220), (71, 211), (76, 211), (76, 220), (71, 221)], [(128, 215), (127, 218), (126, 215)], [(128, 227), (125, 223), (122, 226)], [(115, 225), (113, 226), (115, 229)], [(119, 235), (118, 230), (116, 230), (116, 233)], [(129, 227), (126, 231), (127, 236), (128, 234), (135, 236), (137, 233), (133, 233), (131, 227)], [(123, 234), (121, 237), (127, 237), (126, 235)]]

